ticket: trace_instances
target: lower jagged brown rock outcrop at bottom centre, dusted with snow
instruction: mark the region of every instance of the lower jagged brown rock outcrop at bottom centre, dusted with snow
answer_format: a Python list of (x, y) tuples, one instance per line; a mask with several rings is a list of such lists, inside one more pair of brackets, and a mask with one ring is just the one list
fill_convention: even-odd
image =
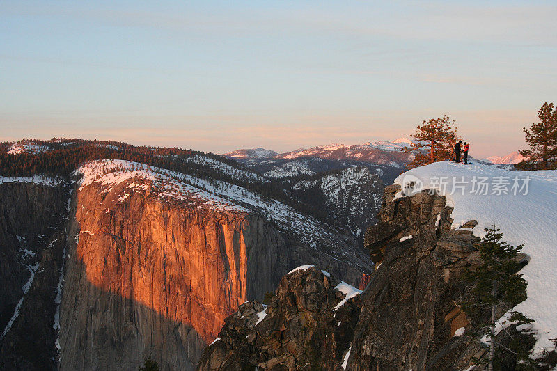
[(269, 306), (248, 301), (226, 319), (198, 370), (339, 369), (361, 305), (339, 285), (315, 267), (284, 276)]

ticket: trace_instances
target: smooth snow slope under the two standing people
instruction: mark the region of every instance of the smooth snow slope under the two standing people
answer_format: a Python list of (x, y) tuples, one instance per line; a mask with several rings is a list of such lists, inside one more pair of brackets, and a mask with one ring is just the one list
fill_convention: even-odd
[(404, 187), (409, 175), (421, 180), (423, 189), (447, 197), (454, 207), (453, 227), (476, 219), (476, 235), (495, 224), (510, 244), (525, 244), (522, 251), (531, 260), (520, 273), (528, 282), (528, 299), (515, 309), (535, 319), (535, 354), (554, 349), (549, 339), (557, 338), (557, 171), (443, 161), (408, 171), (395, 183)]

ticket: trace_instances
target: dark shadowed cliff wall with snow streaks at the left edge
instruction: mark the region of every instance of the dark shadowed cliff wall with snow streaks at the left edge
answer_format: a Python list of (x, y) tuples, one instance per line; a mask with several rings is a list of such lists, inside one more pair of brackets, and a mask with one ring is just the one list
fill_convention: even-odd
[(54, 370), (68, 187), (0, 178), (0, 370)]

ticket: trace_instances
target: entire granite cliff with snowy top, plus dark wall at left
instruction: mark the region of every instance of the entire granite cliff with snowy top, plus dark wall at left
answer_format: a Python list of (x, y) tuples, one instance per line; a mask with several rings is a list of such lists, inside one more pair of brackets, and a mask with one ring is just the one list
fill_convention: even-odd
[(194, 370), (224, 319), (301, 262), (354, 285), (372, 271), (350, 233), (220, 180), (118, 160), (84, 164), (71, 186), (0, 180), (0, 369), (152, 356)]

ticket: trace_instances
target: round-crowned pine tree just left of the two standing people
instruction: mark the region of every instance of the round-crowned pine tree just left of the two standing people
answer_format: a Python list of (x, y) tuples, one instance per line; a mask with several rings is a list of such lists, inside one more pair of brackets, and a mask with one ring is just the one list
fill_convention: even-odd
[(407, 164), (407, 168), (415, 168), (444, 161), (453, 157), (453, 147), (457, 141), (457, 128), (453, 129), (455, 121), (448, 116), (432, 118), (418, 125), (416, 132), (411, 135), (417, 143), (403, 148), (403, 152), (413, 152), (414, 160)]

